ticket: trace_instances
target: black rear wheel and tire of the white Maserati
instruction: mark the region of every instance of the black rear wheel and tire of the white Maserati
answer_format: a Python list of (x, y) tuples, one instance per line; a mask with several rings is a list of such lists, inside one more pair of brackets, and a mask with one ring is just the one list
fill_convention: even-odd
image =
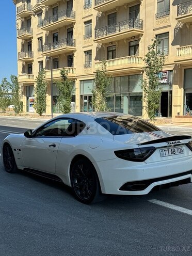
[(71, 168), (71, 185), (75, 198), (85, 204), (103, 200), (98, 175), (92, 163), (78, 159)]

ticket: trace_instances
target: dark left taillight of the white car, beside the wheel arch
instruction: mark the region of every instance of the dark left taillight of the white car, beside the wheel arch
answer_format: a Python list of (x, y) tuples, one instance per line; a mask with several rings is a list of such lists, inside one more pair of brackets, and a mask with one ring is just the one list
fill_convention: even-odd
[(137, 149), (125, 149), (118, 150), (114, 153), (117, 157), (134, 162), (143, 162), (145, 161), (156, 149), (154, 147), (146, 147), (146, 148), (137, 148)]

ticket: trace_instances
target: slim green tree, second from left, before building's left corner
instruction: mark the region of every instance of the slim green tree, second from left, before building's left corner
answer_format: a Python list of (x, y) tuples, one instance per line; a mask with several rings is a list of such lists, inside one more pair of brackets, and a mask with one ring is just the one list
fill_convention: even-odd
[(18, 77), (11, 75), (11, 90), (12, 90), (12, 104), (14, 105), (13, 110), (15, 114), (22, 112), (22, 101), (20, 96), (20, 86), (18, 83)]

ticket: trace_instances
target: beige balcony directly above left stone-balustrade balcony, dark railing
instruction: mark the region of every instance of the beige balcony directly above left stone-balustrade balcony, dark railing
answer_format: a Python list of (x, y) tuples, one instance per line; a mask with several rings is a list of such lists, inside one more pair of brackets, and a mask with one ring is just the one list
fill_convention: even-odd
[(62, 39), (58, 42), (44, 44), (42, 48), (43, 56), (54, 56), (57, 54), (70, 53), (74, 52), (75, 48), (75, 39)]

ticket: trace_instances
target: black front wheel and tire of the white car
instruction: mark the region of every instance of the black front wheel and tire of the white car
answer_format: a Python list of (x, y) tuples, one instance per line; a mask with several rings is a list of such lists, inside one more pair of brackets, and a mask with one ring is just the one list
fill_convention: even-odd
[(7, 172), (12, 173), (18, 170), (15, 163), (14, 154), (11, 149), (11, 146), (8, 143), (5, 143), (3, 146), (3, 164)]

